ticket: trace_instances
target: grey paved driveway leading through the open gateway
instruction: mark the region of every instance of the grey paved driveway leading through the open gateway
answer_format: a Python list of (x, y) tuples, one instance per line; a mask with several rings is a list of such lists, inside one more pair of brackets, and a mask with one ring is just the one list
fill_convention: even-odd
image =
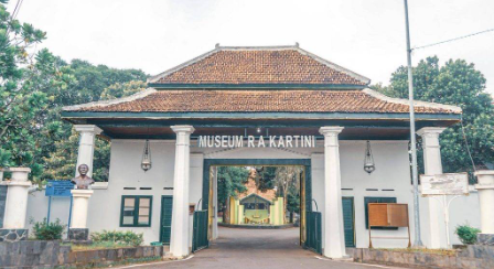
[[(325, 259), (299, 246), (299, 229), (219, 228), (219, 239), (187, 260), (122, 268), (369, 269), (376, 266)], [(380, 267), (384, 268), (384, 267)]]

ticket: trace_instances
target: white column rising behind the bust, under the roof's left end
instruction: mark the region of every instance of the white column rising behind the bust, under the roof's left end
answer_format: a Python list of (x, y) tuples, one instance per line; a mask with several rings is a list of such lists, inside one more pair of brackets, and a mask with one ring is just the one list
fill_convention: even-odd
[(95, 137), (101, 133), (101, 129), (94, 125), (76, 125), (75, 130), (79, 132), (79, 149), (77, 151), (77, 165), (75, 168), (75, 176), (79, 175), (77, 168), (80, 164), (89, 166), (87, 175), (93, 176), (93, 158), (95, 154)]

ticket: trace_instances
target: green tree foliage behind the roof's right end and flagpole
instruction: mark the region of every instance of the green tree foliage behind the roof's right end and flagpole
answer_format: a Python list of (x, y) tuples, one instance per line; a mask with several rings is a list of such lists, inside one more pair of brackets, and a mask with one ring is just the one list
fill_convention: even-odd
[[(472, 158), (477, 165), (494, 163), (494, 106), (485, 92), (485, 78), (473, 64), (449, 60), (439, 65), (437, 56), (419, 62), (412, 68), (414, 92), (418, 100), (459, 106)], [(400, 66), (391, 75), (390, 85), (374, 85), (374, 89), (398, 98), (408, 98), (407, 68)], [(441, 157), (444, 172), (472, 172), (461, 125), (441, 134)]]

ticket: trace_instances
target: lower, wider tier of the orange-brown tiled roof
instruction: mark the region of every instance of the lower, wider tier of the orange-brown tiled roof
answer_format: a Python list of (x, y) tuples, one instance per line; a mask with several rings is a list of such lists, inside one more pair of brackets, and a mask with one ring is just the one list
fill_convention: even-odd
[[(461, 109), (416, 103), (418, 114), (460, 114)], [(101, 112), (408, 112), (407, 100), (370, 89), (148, 89), (132, 97), (65, 108)]]

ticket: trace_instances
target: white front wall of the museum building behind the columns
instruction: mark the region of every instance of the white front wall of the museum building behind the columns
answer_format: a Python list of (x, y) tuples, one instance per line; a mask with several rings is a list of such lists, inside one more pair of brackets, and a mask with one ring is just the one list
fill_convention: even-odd
[[(319, 211), (324, 213), (324, 168), (323, 144), (318, 142), (314, 149), (249, 149), (235, 150), (200, 149), (195, 141), (191, 143), (191, 181), (190, 203), (196, 204), (202, 196), (203, 159), (311, 159), (312, 160), (312, 195), (316, 201)], [(172, 195), (172, 190), (163, 187), (173, 186), (174, 141), (151, 141), (152, 169), (143, 172), (140, 169), (143, 140), (112, 140), (111, 161), (108, 189), (95, 190), (89, 202), (88, 227), (92, 232), (103, 229), (135, 230), (144, 234), (146, 243), (159, 240), (161, 195)], [(376, 171), (368, 175), (363, 170), (365, 141), (340, 141), (342, 189), (343, 196), (354, 197), (356, 246), (368, 247), (368, 230), (365, 229), (364, 197), (391, 196), (398, 203), (408, 203), (410, 225), (412, 223), (412, 193), (410, 171), (408, 165), (408, 141), (372, 141)], [(136, 187), (137, 190), (124, 190)], [(152, 187), (151, 191), (139, 187)], [(366, 189), (377, 189), (368, 191)], [(383, 191), (383, 189), (394, 191)], [(151, 227), (119, 227), (121, 195), (152, 195)], [(425, 206), (422, 206), (425, 208)], [(458, 198), (451, 207), (451, 234), (454, 226), (469, 222), (480, 226), (479, 200), (476, 193), (468, 197)], [(47, 197), (44, 192), (30, 194), (28, 218), (41, 220), (46, 216)], [(426, 229), (427, 214), (422, 211), (422, 230)], [(54, 198), (52, 201), (52, 219), (61, 218), (63, 223), (68, 219), (68, 198)], [(324, 219), (324, 216), (323, 218)], [(190, 226), (192, 227), (192, 217)], [(324, 224), (323, 224), (324, 227)], [(324, 233), (324, 232), (323, 232)], [(374, 236), (406, 236), (406, 228), (399, 230), (373, 230)], [(411, 230), (414, 236), (414, 230)], [(425, 233), (422, 233), (422, 239)], [(191, 237), (192, 238), (192, 237)], [(458, 243), (452, 234), (453, 244)], [(406, 240), (375, 239), (375, 247), (406, 247)]]

